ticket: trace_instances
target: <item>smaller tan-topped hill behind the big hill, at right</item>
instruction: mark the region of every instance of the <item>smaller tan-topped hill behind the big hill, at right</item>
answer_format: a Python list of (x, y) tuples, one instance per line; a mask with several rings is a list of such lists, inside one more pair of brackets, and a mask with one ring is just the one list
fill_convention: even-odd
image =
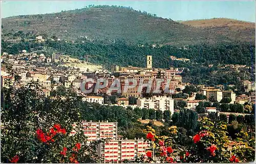
[(255, 23), (253, 22), (227, 18), (200, 19), (179, 22), (191, 27), (204, 29), (207, 32), (227, 36), (231, 38), (231, 40), (242, 39), (254, 42), (255, 38)]

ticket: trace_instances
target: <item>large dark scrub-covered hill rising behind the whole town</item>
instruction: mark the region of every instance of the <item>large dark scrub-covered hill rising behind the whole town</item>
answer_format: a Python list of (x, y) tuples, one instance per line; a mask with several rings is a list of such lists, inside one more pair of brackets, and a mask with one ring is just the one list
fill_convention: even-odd
[[(254, 38), (255, 28), (240, 30), (243, 37), (236, 37), (228, 29), (197, 28), (155, 14), (135, 11), (116, 6), (96, 6), (92, 8), (63, 11), (60, 13), (23, 15), (2, 19), (2, 37), (8, 33), (23, 31), (25, 34), (56, 36), (67, 40), (115, 39), (131, 43), (148, 42), (171, 45), (191, 45), (199, 43), (248, 41)], [(224, 33), (224, 34), (223, 34)], [(254, 39), (253, 39), (254, 40)]]

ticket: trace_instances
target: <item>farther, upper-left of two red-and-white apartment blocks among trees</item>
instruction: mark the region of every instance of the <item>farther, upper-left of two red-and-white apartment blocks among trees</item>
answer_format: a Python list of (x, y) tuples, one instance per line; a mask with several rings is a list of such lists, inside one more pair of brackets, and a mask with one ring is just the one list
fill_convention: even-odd
[(97, 141), (110, 138), (117, 140), (117, 122), (92, 122), (83, 121), (80, 124), (74, 123), (71, 134), (75, 134), (77, 129), (82, 129), (84, 135), (88, 136), (88, 141)]

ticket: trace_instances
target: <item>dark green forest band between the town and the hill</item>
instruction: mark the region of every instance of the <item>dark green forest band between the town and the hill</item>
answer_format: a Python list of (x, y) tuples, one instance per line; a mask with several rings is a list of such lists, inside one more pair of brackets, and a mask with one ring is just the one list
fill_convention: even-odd
[(170, 56), (190, 59), (191, 63), (199, 64), (251, 65), (251, 59), (255, 58), (255, 45), (250, 43), (200, 44), (189, 46), (187, 49), (171, 45), (157, 48), (150, 45), (140, 47), (138, 44), (129, 45), (121, 40), (117, 40), (113, 44), (101, 42), (70, 43), (50, 40), (45, 43), (25, 41), (8, 43), (2, 41), (2, 52), (17, 54), (22, 49), (27, 51), (44, 49), (49, 55), (53, 50), (80, 59), (83, 58), (84, 54), (90, 54), (92, 56), (91, 63), (104, 64), (105, 66), (132, 65), (136, 67), (145, 67), (146, 55), (150, 54), (153, 56), (153, 67), (155, 68), (169, 68), (172, 66), (174, 62), (170, 59)]

